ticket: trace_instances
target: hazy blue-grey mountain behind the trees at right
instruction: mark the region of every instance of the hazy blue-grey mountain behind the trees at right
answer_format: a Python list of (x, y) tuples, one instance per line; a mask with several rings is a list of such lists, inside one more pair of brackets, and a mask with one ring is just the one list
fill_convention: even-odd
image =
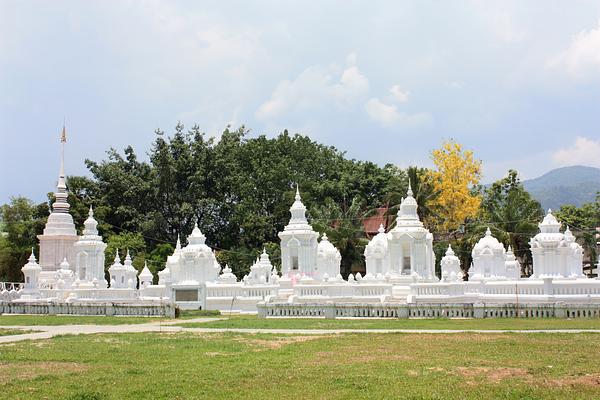
[(523, 181), (523, 185), (544, 210), (558, 210), (563, 204), (579, 207), (594, 201), (596, 193), (600, 192), (600, 168), (557, 168), (539, 178)]

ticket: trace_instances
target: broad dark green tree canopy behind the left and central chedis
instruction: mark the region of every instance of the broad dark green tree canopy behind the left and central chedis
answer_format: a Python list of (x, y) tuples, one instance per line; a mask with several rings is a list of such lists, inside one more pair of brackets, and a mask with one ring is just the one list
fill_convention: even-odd
[[(309, 210), (325, 203), (343, 209), (360, 197), (362, 213), (384, 204), (385, 193), (405, 182), (403, 171), (393, 166), (349, 160), (334, 147), (287, 131), (274, 138), (249, 137), (244, 127), (228, 127), (219, 141), (207, 139), (198, 126), (186, 131), (178, 124), (171, 135), (155, 133), (148, 161), (139, 160), (131, 147), (123, 154), (111, 149), (100, 162), (88, 160), (93, 179), (76, 182), (78, 199), (94, 204), (105, 239), (140, 233), (145, 255), (174, 246), (178, 235), (185, 244), (197, 222), (219, 260), (238, 276), (263, 245), (279, 263), (277, 232), (289, 220), (297, 183)], [(84, 207), (78, 208), (83, 213)], [(360, 230), (359, 223), (357, 217)], [(352, 235), (348, 243), (356, 232)], [(348, 259), (359, 253), (356, 248)]]

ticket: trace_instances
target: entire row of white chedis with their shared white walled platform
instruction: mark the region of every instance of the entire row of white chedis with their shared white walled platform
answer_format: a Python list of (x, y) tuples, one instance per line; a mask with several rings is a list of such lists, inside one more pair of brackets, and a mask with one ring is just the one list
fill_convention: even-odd
[(44, 233), (39, 236), (40, 263), (32, 252), (22, 268), (22, 288), (1, 291), (2, 301), (109, 303), (110, 307), (174, 303), (181, 308), (238, 312), (257, 312), (260, 304), (272, 309), (281, 307), (280, 315), (291, 315), (285, 314), (290, 307), (308, 313), (331, 313), (335, 306), (342, 310), (336, 311), (340, 315), (362, 307), (366, 316), (372, 316), (373, 307), (379, 307), (381, 315), (391, 316), (403, 305), (428, 305), (439, 311), (440, 305), (515, 303), (586, 304), (598, 305), (600, 310), (600, 279), (583, 275), (582, 247), (568, 228), (560, 232), (560, 223), (550, 211), (539, 224), (540, 233), (530, 242), (531, 277), (521, 278), (512, 249), (505, 249), (488, 228), (472, 249), (468, 281), (464, 280), (460, 260), (450, 246), (441, 259), (440, 280), (435, 275), (433, 235), (419, 220), (409, 184), (393, 229), (386, 233), (381, 226), (365, 248), (366, 274), (350, 274), (343, 279), (339, 250), (325, 234), (319, 241), (319, 233), (310, 225), (296, 187), (290, 221), (278, 235), (281, 275), (264, 249), (242, 280), (229, 266), (221, 270), (215, 252), (196, 224), (187, 246), (182, 247), (177, 239), (155, 284), (147, 266), (136, 270), (129, 251), (122, 262), (117, 250), (107, 274), (106, 244), (99, 235), (93, 210), (90, 208), (82, 235), (77, 236), (67, 196), (61, 158), (56, 201)]

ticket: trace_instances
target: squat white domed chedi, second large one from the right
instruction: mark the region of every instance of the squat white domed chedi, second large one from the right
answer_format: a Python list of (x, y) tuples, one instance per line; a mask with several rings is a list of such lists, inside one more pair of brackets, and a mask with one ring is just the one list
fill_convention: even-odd
[(487, 228), (485, 235), (471, 251), (473, 263), (469, 268), (469, 280), (506, 278), (505, 253), (504, 245)]

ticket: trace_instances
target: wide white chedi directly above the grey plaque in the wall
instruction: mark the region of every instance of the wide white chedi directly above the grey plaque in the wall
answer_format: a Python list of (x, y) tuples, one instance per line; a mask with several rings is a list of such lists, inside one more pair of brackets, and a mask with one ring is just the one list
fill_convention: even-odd
[(217, 280), (221, 267), (197, 223), (188, 237), (187, 246), (181, 248), (178, 240), (173, 255), (167, 258), (167, 268), (173, 285), (199, 285)]

